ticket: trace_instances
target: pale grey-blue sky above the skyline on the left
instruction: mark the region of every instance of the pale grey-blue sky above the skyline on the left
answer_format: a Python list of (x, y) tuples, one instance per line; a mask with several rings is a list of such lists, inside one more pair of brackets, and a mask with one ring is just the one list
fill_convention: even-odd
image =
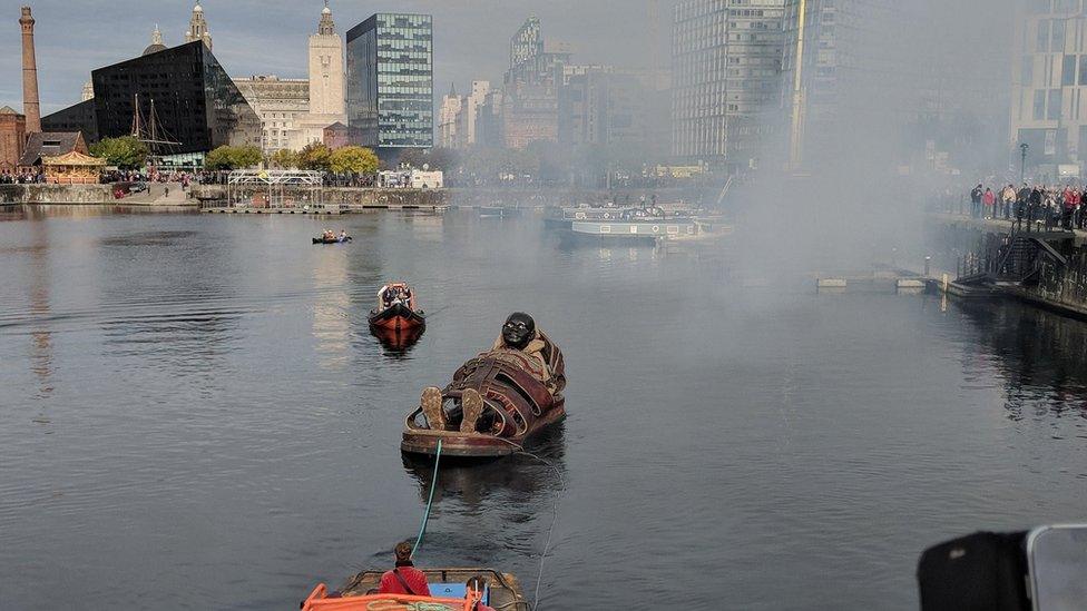
[[(548, 39), (570, 42), (575, 60), (640, 67), (650, 57), (650, 0), (332, 0), (336, 30), (380, 11), (434, 16), (434, 88), (473, 78), (500, 81), (509, 39), (536, 14)], [(167, 46), (184, 42), (190, 0), (0, 0), (0, 106), (22, 109), (19, 6), (30, 3), (42, 114), (79, 101), (90, 71), (139, 55), (158, 23)], [(658, 57), (668, 60), (674, 0), (659, 0)], [(316, 31), (323, 0), (206, 0), (214, 53), (232, 76), (305, 77), (306, 37)]]

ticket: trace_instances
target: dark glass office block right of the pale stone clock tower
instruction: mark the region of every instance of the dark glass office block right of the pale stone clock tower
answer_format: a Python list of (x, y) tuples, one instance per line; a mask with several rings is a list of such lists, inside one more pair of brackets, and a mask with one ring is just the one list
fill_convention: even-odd
[(347, 31), (351, 139), (382, 149), (434, 146), (429, 14), (378, 13)]

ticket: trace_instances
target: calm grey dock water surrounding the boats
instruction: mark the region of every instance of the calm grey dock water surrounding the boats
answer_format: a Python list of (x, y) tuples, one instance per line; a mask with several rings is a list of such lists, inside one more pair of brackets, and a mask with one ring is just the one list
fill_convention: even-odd
[[(1081, 323), (536, 218), (2, 218), (2, 609), (296, 609), (385, 566), (430, 481), (403, 414), (515, 309), (566, 353), (561, 481), (443, 471), (421, 564), (531, 590), (557, 503), (541, 607), (913, 609), (927, 544), (1085, 518)], [(312, 246), (331, 223), (355, 242)], [(398, 277), (431, 313), (404, 354), (365, 323)]]

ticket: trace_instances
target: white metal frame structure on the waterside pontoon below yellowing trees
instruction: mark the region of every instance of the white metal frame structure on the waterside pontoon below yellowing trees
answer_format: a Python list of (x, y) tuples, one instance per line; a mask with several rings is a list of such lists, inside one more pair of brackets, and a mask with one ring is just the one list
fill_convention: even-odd
[(319, 207), (322, 177), (312, 170), (234, 170), (227, 176), (226, 200), (233, 207)]

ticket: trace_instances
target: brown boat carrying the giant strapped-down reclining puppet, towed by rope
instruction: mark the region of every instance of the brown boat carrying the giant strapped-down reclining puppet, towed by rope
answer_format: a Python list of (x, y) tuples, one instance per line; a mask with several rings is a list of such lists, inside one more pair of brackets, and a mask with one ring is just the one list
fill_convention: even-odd
[(566, 417), (565, 387), (562, 352), (531, 316), (516, 312), (491, 349), (464, 363), (444, 388), (423, 390), (400, 449), (466, 459), (513, 454)]

